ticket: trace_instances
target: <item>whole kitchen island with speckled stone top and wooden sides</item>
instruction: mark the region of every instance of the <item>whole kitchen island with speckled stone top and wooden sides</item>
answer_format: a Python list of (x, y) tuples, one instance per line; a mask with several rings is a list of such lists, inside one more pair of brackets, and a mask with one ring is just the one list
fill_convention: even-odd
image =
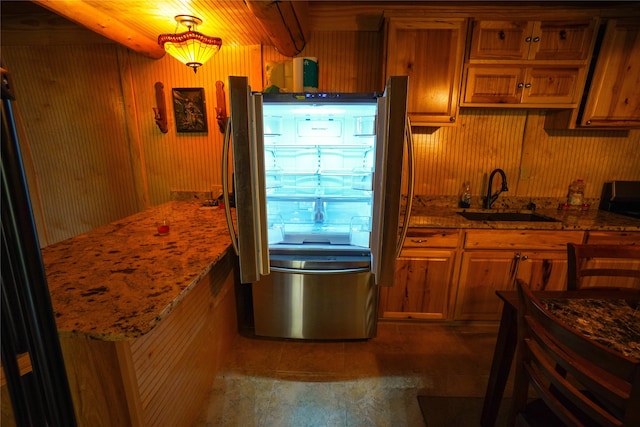
[(230, 245), (221, 209), (170, 202), (42, 250), (79, 425), (193, 423), (237, 334)]

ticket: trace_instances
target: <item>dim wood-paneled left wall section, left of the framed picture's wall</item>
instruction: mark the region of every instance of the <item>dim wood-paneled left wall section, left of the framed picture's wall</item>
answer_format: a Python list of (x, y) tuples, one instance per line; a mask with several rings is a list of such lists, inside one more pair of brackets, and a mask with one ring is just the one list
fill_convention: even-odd
[(138, 210), (117, 49), (3, 46), (43, 246)]

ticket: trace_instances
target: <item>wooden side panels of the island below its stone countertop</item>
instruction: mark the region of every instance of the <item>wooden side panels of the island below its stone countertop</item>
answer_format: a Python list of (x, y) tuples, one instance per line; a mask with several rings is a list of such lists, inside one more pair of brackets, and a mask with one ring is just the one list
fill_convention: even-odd
[(228, 253), (149, 333), (61, 337), (79, 426), (191, 426), (237, 333)]

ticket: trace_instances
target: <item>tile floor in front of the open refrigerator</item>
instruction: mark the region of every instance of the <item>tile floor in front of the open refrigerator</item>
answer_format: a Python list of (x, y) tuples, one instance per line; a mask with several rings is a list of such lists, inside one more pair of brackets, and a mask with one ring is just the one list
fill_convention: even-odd
[(497, 327), (383, 321), (368, 341), (238, 336), (194, 427), (424, 426), (419, 394), (484, 395)]

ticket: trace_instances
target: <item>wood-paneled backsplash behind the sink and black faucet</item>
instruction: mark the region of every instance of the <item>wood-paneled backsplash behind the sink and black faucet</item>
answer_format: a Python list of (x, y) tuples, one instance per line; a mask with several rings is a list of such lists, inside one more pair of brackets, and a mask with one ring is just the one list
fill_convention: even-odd
[(586, 182), (599, 197), (609, 180), (640, 180), (640, 131), (544, 130), (542, 110), (460, 111), (458, 126), (414, 128), (416, 194), (458, 194), (464, 181), (474, 196), (486, 192), (488, 174), (501, 168), (509, 196), (557, 197)]

